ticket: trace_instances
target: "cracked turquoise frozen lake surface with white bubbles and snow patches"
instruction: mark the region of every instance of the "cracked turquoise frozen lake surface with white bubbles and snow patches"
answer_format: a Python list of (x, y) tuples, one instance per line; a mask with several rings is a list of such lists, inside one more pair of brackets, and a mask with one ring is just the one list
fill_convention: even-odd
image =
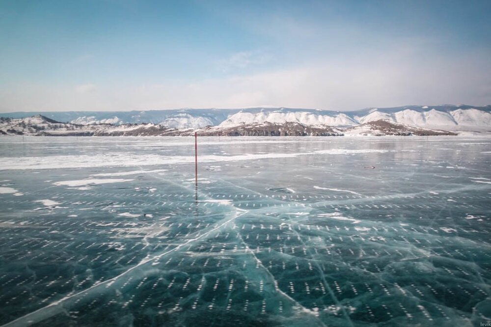
[(193, 138), (0, 137), (0, 325), (491, 319), (491, 137), (198, 154), (195, 193)]

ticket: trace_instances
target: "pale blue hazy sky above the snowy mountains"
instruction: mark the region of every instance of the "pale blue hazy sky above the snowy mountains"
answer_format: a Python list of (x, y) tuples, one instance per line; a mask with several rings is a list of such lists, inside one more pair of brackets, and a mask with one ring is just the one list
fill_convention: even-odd
[(491, 104), (491, 1), (0, 1), (0, 111)]

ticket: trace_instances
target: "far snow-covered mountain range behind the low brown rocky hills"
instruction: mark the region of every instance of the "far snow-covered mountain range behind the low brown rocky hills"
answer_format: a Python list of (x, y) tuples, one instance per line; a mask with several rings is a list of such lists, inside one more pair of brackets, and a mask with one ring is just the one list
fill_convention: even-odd
[(149, 123), (175, 129), (204, 128), (206, 126), (233, 127), (262, 123), (298, 123), (310, 127), (327, 125), (336, 128), (348, 128), (383, 119), (430, 129), (479, 132), (491, 130), (491, 106), (473, 107), (467, 105), (368, 108), (343, 112), (319, 109), (247, 108), (111, 112), (12, 112), (3, 113), (0, 116), (26, 118), (36, 114), (58, 122), (69, 122), (77, 125)]

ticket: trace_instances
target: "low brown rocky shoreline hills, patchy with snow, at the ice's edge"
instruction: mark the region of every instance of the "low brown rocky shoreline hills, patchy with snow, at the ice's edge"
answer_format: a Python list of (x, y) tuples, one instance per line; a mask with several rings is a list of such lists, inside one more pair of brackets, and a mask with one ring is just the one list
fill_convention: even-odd
[(304, 125), (297, 122), (252, 122), (238, 125), (220, 124), (204, 128), (176, 129), (151, 123), (91, 124), (62, 123), (35, 115), (26, 118), (0, 117), (3, 136), (442, 136), (453, 132), (415, 127), (389, 120), (377, 120), (348, 128), (324, 124)]

